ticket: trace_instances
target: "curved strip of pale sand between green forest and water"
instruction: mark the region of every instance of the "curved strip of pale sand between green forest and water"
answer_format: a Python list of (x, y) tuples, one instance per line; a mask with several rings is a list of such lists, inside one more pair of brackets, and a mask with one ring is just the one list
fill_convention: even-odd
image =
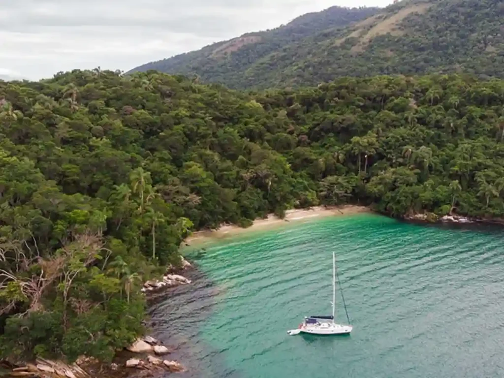
[(242, 228), (232, 224), (222, 225), (218, 230), (203, 230), (194, 232), (190, 237), (185, 239), (185, 243), (192, 245), (194, 243), (204, 242), (209, 239), (224, 238), (244, 232), (265, 230), (272, 227), (285, 225), (286, 222), (307, 221), (313, 218), (322, 218), (330, 216), (342, 216), (358, 213), (370, 213), (371, 210), (365, 206), (337, 206), (323, 207), (317, 206), (310, 209), (293, 209), (288, 210), (284, 219), (280, 219), (273, 214), (270, 214), (265, 219), (256, 219), (250, 227)]

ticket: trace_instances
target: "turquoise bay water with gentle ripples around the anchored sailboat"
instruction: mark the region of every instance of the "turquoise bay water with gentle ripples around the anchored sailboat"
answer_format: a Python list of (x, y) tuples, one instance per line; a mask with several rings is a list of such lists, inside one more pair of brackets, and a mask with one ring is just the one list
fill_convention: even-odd
[[(503, 235), (368, 214), (240, 235), (193, 253), (206, 278), (154, 318), (187, 376), (501, 377)], [(352, 334), (288, 336), (330, 313), (332, 251)]]

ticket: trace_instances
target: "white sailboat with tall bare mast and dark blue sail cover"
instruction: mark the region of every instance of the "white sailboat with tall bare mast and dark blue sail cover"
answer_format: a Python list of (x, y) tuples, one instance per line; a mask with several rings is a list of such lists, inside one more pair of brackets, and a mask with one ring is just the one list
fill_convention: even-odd
[[(297, 335), (301, 332), (313, 335), (344, 335), (352, 332), (353, 327), (337, 324), (334, 322), (334, 311), (336, 302), (336, 257), (333, 252), (333, 314), (331, 316), (310, 316), (304, 317), (304, 321), (295, 330), (287, 331), (288, 335)], [(346, 307), (345, 307), (346, 310)], [(348, 313), (347, 313), (347, 320)]]

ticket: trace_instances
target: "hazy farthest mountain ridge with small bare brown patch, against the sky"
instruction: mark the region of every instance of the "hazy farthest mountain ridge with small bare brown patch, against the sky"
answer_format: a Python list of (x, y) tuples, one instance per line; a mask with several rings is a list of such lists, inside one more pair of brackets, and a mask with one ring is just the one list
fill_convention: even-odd
[(234, 82), (241, 80), (240, 77), (244, 79), (243, 73), (253, 68), (259, 59), (282, 51), (290, 44), (324, 30), (336, 30), (352, 22), (364, 20), (379, 10), (379, 8), (331, 7), (323, 12), (308, 13), (273, 30), (247, 33), (229, 41), (214, 43), (198, 51), (150, 62), (129, 73), (157, 70), (189, 76), (196, 74), (205, 81), (240, 87)]

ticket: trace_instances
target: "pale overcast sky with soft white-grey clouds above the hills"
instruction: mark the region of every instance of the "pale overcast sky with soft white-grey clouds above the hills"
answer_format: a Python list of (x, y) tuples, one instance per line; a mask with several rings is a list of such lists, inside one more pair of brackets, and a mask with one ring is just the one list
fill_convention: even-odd
[(0, 78), (128, 71), (331, 6), (391, 0), (0, 0)]

